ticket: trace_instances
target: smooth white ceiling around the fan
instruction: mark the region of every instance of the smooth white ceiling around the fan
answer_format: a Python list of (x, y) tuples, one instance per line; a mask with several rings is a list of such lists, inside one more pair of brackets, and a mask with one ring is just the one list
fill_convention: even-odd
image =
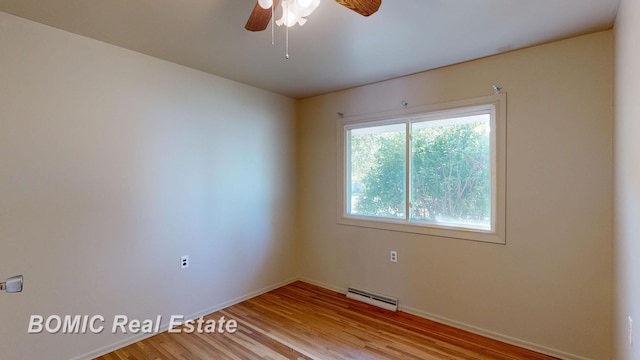
[(611, 28), (620, 0), (333, 0), (303, 27), (251, 33), (256, 0), (0, 0), (0, 11), (303, 98)]

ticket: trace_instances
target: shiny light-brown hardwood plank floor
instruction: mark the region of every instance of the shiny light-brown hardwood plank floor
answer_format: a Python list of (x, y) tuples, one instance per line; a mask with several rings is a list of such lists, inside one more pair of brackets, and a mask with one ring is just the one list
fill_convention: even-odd
[(555, 359), (304, 282), (204, 320), (222, 316), (238, 322), (237, 332), (164, 332), (98, 359)]

